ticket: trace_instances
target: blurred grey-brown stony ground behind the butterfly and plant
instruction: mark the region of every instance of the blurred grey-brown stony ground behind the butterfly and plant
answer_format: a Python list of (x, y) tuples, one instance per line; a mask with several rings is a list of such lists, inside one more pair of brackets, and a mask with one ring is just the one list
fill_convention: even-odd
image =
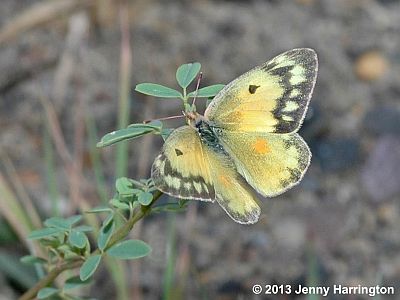
[[(179, 113), (179, 101), (133, 88), (176, 87), (180, 64), (201, 62), (205, 86), (283, 51), (315, 49), (318, 81), (300, 131), (313, 159), (301, 184), (265, 199), (252, 226), (196, 202), (176, 217), (146, 218), (132, 236), (153, 252), (126, 266), (130, 298), (162, 298), (167, 266), (170, 299), (253, 299), (255, 283), (380, 284), (400, 293), (400, 1), (2, 0), (0, 26), (0, 181), (17, 198), (23, 186), (42, 218), (52, 215), (54, 195), (64, 216), (82, 199), (100, 203), (85, 120), (94, 120), (99, 136), (118, 127), (121, 69), (131, 73), (135, 123)], [(149, 175), (161, 144), (157, 136), (129, 143), (129, 177)], [(115, 148), (97, 151), (110, 196)], [(28, 251), (23, 234), (2, 213), (0, 253), (17, 259)], [(0, 299), (13, 299), (30, 281), (6, 271)], [(115, 298), (109, 276), (102, 269), (87, 294)]]

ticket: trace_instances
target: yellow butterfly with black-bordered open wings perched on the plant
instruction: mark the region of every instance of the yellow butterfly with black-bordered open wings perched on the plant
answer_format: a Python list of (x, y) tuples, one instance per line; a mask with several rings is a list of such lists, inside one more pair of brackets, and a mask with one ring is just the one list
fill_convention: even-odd
[(317, 71), (314, 50), (293, 49), (226, 85), (204, 116), (188, 114), (188, 125), (166, 139), (151, 169), (155, 187), (177, 198), (217, 201), (238, 223), (257, 222), (257, 193), (285, 192), (310, 164), (297, 131)]

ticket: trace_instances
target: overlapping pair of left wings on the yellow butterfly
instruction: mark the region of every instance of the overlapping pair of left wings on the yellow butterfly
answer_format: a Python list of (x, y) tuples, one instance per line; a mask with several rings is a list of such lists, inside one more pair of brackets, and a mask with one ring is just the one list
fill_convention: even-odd
[(257, 222), (257, 196), (236, 170), (232, 158), (210, 141), (203, 142), (197, 131), (183, 126), (171, 133), (152, 167), (154, 185), (183, 199), (220, 204), (238, 223)]

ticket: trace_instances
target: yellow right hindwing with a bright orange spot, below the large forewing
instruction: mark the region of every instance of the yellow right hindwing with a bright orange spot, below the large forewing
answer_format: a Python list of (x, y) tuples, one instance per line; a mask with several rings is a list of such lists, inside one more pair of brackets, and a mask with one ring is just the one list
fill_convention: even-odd
[(276, 196), (296, 185), (310, 164), (311, 152), (297, 133), (218, 132), (239, 173), (263, 196)]

